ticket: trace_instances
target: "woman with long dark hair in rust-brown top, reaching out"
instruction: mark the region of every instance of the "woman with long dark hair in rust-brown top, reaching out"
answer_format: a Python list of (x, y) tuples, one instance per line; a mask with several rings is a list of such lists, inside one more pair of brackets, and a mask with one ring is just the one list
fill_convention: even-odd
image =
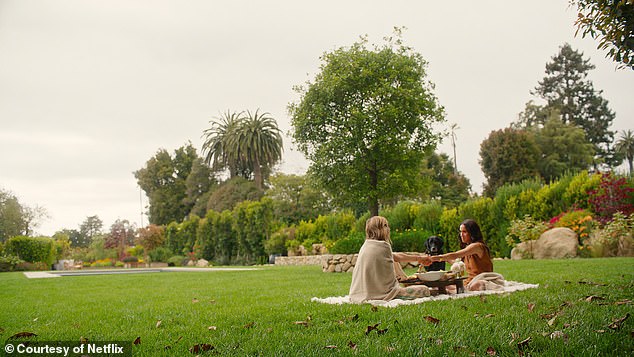
[(460, 250), (430, 256), (431, 260), (449, 261), (463, 259), (467, 271), (467, 290), (496, 290), (504, 286), (504, 277), (493, 273), (493, 261), (489, 247), (484, 243), (478, 223), (466, 219), (460, 223)]

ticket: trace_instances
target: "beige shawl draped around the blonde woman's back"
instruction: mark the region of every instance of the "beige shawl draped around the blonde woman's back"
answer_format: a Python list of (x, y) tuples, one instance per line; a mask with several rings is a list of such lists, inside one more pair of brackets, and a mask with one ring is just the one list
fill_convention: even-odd
[(399, 287), (394, 273), (392, 247), (384, 241), (366, 239), (352, 271), (350, 300), (392, 300)]

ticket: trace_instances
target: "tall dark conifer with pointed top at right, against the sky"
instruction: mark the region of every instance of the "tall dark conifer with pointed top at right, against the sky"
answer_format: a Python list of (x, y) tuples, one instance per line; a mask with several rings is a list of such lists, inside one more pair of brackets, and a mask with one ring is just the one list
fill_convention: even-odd
[(531, 92), (546, 103), (540, 106), (529, 102), (525, 112), (520, 114), (523, 121), (520, 125), (543, 125), (553, 113), (559, 113), (565, 124), (585, 131), (586, 138), (594, 145), (595, 167), (602, 163), (613, 166), (618, 164), (611, 147), (614, 132), (610, 131), (615, 114), (601, 96), (602, 91), (595, 90), (587, 79), (588, 72), (594, 68), (582, 53), (564, 44), (546, 64), (546, 77)]

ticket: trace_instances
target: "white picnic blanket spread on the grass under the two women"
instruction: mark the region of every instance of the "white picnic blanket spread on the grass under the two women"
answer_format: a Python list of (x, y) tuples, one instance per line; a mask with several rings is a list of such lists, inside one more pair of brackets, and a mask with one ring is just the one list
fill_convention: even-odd
[[(499, 290), (465, 291), (462, 294), (440, 294), (440, 295), (436, 295), (436, 296), (429, 296), (429, 297), (418, 298), (418, 299), (414, 299), (414, 300), (401, 300), (401, 299), (394, 299), (394, 300), (390, 300), (390, 301), (368, 300), (368, 301), (366, 301), (366, 303), (372, 304), (374, 306), (397, 307), (397, 306), (401, 306), (401, 305), (420, 304), (420, 303), (423, 303), (423, 302), (426, 302), (426, 301), (462, 299), (462, 298), (467, 298), (467, 297), (471, 297), (471, 296), (478, 296), (478, 295), (505, 294), (505, 293), (512, 293), (514, 291), (533, 289), (533, 288), (537, 288), (537, 287), (539, 287), (538, 284), (525, 284), (525, 283), (520, 283), (520, 282), (516, 282), (516, 281), (508, 281), (507, 280), (504, 283), (504, 288), (503, 289), (499, 289)], [(333, 304), (333, 305), (354, 304), (352, 301), (350, 301), (350, 298), (347, 295), (346, 296), (327, 297), (327, 298), (314, 297), (314, 298), (310, 299), (310, 301), (320, 302), (320, 303), (324, 303), (324, 304)]]

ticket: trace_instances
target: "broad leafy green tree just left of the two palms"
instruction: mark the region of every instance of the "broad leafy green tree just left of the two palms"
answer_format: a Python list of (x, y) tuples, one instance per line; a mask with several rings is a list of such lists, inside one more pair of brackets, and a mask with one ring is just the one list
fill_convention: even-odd
[(160, 149), (144, 168), (134, 173), (149, 199), (150, 223), (166, 225), (181, 222), (191, 212), (193, 203), (186, 199), (186, 181), (197, 158), (191, 143), (175, 150), (173, 157), (165, 149)]

